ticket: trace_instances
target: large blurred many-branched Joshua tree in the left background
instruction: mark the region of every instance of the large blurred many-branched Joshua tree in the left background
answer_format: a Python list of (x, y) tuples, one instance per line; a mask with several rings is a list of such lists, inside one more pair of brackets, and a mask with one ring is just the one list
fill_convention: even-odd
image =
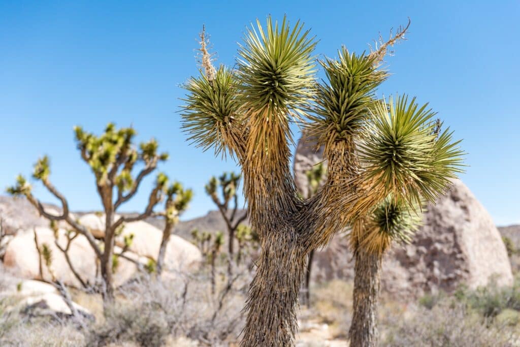
[[(117, 219), (114, 215), (123, 203), (136, 194), (142, 180), (157, 168), (158, 162), (166, 160), (168, 155), (158, 153), (158, 144), (154, 139), (137, 147), (133, 142), (135, 130), (131, 127), (116, 129), (115, 125), (110, 123), (100, 136), (87, 133), (79, 126), (74, 127), (74, 131), (81, 158), (94, 173), (97, 192), (105, 212), (105, 233), (101, 245), (88, 228), (74, 219), (67, 199), (50, 182), (48, 157), (45, 156), (36, 162), (33, 177), (41, 181), (51, 194), (60, 200), (61, 214), (47, 211), (40, 200), (33, 196), (31, 185), (21, 175), (17, 178), (17, 184), (7, 190), (10, 194), (27, 197), (49, 221), (64, 221), (74, 233), (87, 238), (100, 262), (103, 299), (110, 300), (114, 295), (112, 272), (115, 236), (124, 223), (144, 220), (153, 213), (155, 205), (161, 201), (167, 187), (167, 177), (164, 174), (158, 175), (144, 212), (134, 216), (120, 216)], [(133, 171), (139, 166), (141, 168), (136, 175)]]

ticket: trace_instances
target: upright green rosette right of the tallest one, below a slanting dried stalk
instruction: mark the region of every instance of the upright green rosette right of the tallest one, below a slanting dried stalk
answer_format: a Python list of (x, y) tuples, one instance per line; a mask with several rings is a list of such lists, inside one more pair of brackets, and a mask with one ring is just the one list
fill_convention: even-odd
[(330, 147), (337, 140), (354, 138), (370, 117), (374, 91), (387, 73), (374, 66), (373, 58), (338, 51), (339, 59), (320, 61), (327, 81), (318, 84), (314, 115), (306, 125), (318, 146)]

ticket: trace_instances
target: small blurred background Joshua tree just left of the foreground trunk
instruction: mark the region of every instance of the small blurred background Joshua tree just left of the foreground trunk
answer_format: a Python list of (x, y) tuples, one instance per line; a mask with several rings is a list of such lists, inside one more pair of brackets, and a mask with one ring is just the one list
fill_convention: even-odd
[[(226, 222), (228, 233), (228, 277), (233, 275), (233, 262), (235, 259), (235, 235), (240, 223), (248, 217), (246, 213), (238, 216), (237, 189), (240, 183), (240, 175), (231, 172), (223, 173), (222, 176), (211, 177), (205, 186), (206, 193), (217, 205), (218, 211)], [(231, 205), (230, 205), (231, 204)], [(231, 209), (230, 209), (231, 207)]]

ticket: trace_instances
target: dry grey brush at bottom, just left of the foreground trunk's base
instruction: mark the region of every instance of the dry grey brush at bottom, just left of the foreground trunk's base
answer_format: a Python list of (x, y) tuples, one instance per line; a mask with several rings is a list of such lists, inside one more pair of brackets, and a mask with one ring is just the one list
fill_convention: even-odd
[(215, 295), (207, 274), (183, 275), (171, 281), (145, 276), (120, 289), (107, 307), (105, 320), (90, 328), (89, 346), (133, 342), (161, 346), (167, 340), (188, 337), (201, 345), (227, 345), (243, 326), (242, 283), (249, 277), (218, 286)]

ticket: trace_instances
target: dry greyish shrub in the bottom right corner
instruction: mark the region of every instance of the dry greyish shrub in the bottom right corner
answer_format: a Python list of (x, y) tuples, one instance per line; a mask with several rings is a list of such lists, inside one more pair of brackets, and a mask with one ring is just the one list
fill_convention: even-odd
[(382, 346), (506, 347), (517, 341), (512, 328), (484, 324), (464, 304), (410, 307), (407, 319), (386, 316), (382, 326)]

